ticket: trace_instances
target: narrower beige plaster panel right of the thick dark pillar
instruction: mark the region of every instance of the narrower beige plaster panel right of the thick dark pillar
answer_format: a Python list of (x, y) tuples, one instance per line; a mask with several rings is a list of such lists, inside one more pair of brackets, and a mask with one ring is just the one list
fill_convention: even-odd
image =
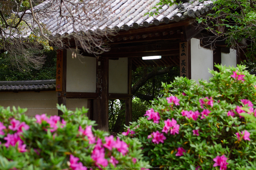
[(109, 93), (128, 93), (128, 58), (109, 60)]

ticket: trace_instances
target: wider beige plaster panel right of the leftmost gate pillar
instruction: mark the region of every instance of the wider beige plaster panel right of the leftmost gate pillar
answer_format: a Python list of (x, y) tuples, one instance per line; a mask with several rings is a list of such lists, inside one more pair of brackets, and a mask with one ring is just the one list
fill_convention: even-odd
[(67, 92), (96, 92), (96, 58), (77, 55), (67, 50)]

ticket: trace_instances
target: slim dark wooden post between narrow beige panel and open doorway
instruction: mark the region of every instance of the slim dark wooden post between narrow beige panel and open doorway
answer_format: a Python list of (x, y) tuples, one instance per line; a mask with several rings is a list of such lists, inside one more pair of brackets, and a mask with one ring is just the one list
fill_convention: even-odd
[[(128, 58), (128, 94), (132, 93), (132, 59)], [(125, 125), (132, 121), (132, 96), (125, 100)]]

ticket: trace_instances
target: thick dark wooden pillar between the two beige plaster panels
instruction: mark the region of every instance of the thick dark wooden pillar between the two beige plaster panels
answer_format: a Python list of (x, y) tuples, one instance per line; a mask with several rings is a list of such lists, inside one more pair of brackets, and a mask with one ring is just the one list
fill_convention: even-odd
[(96, 61), (96, 92), (99, 96), (93, 101), (93, 120), (98, 124), (95, 128), (108, 131), (109, 59), (100, 57)]

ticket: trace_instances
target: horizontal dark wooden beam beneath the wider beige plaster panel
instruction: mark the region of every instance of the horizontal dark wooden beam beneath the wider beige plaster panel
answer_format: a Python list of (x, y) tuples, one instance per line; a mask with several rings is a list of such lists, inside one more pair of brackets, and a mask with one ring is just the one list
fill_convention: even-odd
[(86, 92), (57, 92), (57, 97), (66, 98), (90, 98), (95, 99), (99, 96), (98, 93), (86, 93)]

